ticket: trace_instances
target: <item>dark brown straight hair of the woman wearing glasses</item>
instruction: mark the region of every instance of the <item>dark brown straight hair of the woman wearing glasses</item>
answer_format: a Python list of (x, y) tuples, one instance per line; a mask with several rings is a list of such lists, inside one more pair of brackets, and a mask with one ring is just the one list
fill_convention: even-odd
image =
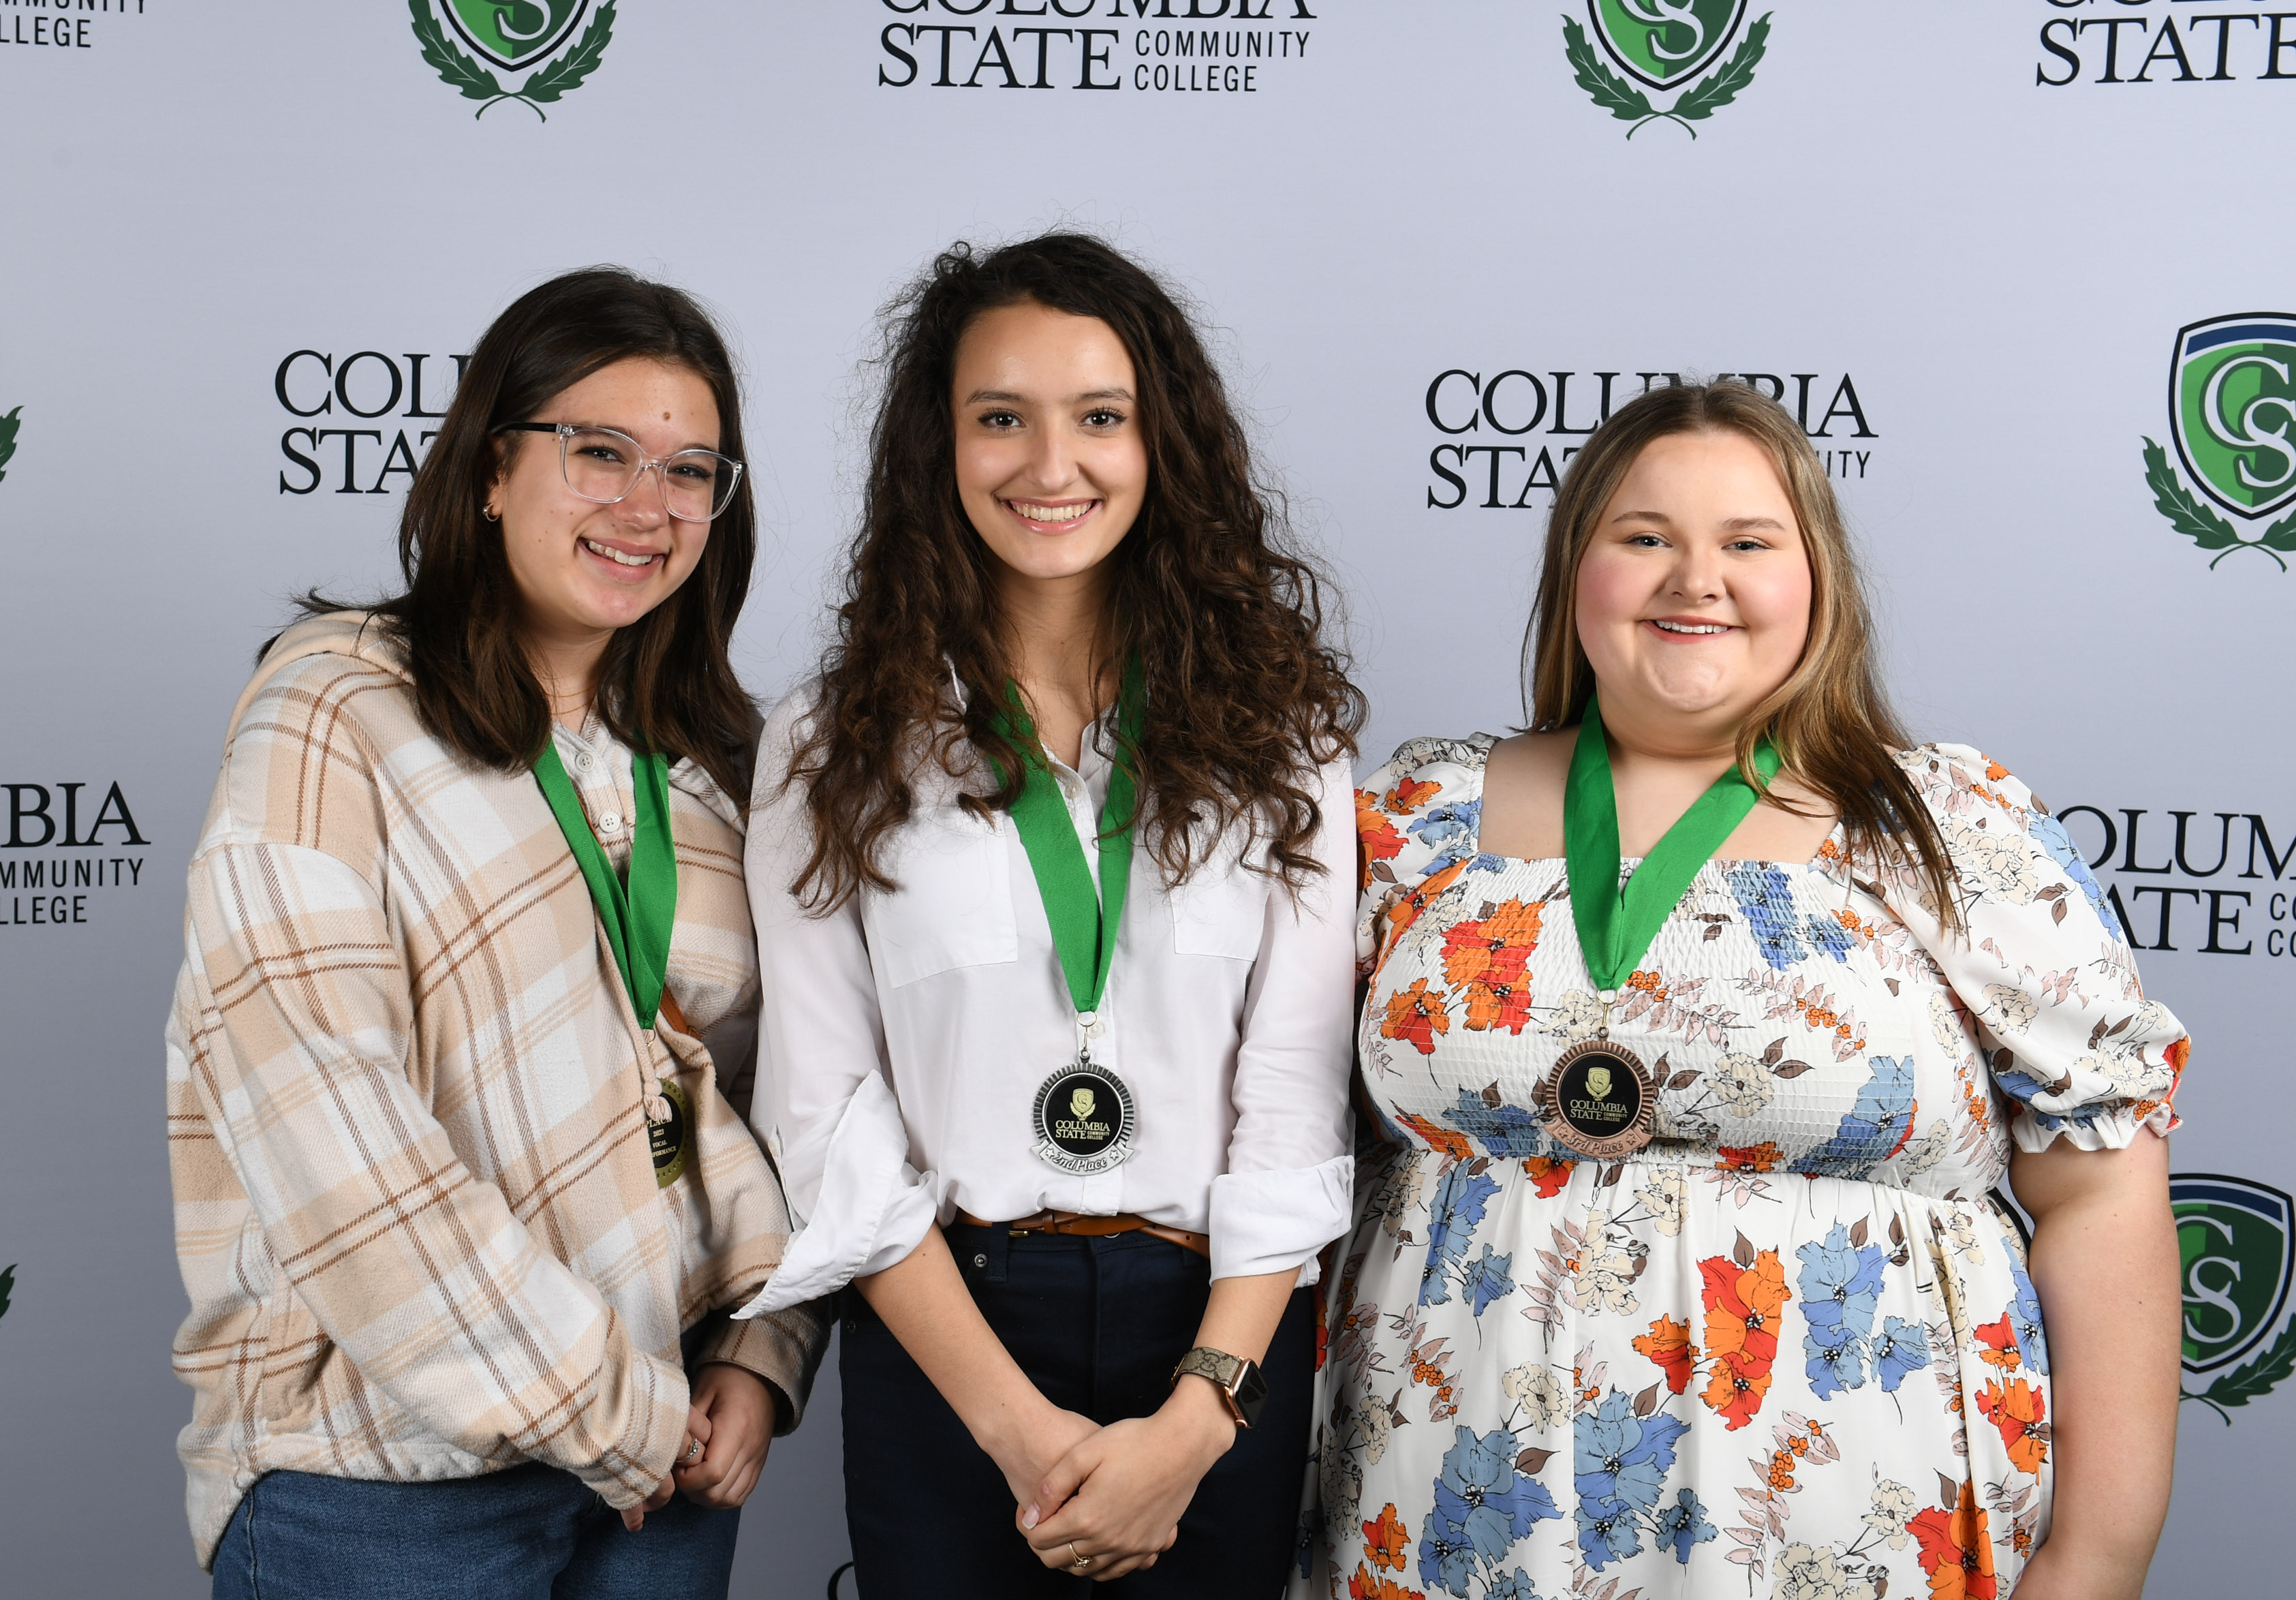
[[(742, 459), (742, 386), (716, 324), (682, 289), (620, 266), (590, 266), (528, 289), (494, 319), (439, 422), (400, 514), (406, 590), (367, 606), (404, 647), (416, 714), (432, 737), (482, 767), (521, 771), (551, 732), (519, 640), (519, 590), (487, 491), (512, 450), (549, 450), (528, 422), (553, 395), (618, 360), (684, 367), (719, 409), (719, 452)], [(684, 755), (735, 799), (748, 794), (755, 707), (726, 643), (748, 597), (758, 512), (748, 475), (709, 523), (700, 565), (670, 599), (615, 631), (599, 663), (597, 712), (636, 751)], [(310, 592), (308, 613), (347, 611)]]

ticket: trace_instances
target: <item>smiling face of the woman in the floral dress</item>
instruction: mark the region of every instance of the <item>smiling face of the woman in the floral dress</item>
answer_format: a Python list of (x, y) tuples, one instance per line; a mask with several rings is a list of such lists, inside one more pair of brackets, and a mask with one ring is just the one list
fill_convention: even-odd
[(1644, 445), (1577, 569), (1577, 634), (1612, 709), (1733, 728), (1809, 640), (1809, 551), (1770, 452), (1736, 432)]

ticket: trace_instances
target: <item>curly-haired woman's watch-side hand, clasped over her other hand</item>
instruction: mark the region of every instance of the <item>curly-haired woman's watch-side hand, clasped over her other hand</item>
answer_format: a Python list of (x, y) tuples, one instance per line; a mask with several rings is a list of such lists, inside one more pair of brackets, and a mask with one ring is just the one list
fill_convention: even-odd
[[(1063, 1455), (1035, 1506), (1019, 1513), (1022, 1531), (1045, 1566), (1095, 1582), (1155, 1566), (1180, 1536), (1180, 1513), (1203, 1474), (1233, 1444), (1235, 1421), (1219, 1391), (1182, 1380), (1155, 1416), (1109, 1423)], [(1038, 1515), (1040, 1506), (1056, 1510)]]

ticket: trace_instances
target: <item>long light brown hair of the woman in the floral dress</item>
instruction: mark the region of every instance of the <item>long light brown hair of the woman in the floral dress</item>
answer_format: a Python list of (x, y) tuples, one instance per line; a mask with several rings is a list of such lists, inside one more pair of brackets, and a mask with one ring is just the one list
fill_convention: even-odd
[[(1809, 553), (1809, 640), (1793, 673), (1738, 725), (1738, 771), (1768, 794), (1754, 746), (1768, 737), (1784, 771), (1841, 817), (1855, 852), (1919, 875), (1947, 927), (1958, 925), (1954, 865), (1929, 806), (1892, 751), (1913, 744), (1874, 673), (1874, 620), (1867, 611), (1848, 528), (1825, 468), (1800, 422), (1745, 383), (1658, 388), (1621, 406), (1570, 461), (1538, 572), (1538, 606), (1522, 638), (1525, 707), (1534, 732), (1575, 725), (1593, 696), (1593, 666), (1577, 634), (1577, 569), (1635, 457), (1671, 434), (1731, 432), (1777, 464)], [(1802, 815), (1784, 799), (1775, 806)]]

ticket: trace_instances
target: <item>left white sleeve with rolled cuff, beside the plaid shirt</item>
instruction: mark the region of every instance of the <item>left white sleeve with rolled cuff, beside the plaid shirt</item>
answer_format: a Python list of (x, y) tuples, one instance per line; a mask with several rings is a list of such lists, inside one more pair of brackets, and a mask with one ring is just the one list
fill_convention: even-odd
[(884, 1019), (861, 909), (808, 911), (792, 884), (810, 854), (801, 785), (785, 785), (801, 709), (767, 719), (748, 824), (758, 927), (758, 1088), (751, 1127), (790, 1201), (794, 1233), (737, 1318), (783, 1311), (900, 1263), (934, 1221), (930, 1178), (886, 1077)]

